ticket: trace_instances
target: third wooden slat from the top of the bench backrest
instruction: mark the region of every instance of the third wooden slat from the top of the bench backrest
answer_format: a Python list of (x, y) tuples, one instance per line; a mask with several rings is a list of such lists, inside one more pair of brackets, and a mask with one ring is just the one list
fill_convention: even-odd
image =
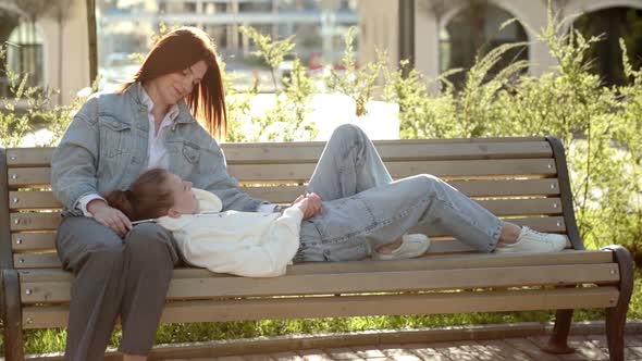
[[(511, 180), (453, 180), (448, 182), (469, 197), (524, 197), (557, 196), (557, 179), (511, 179)], [(243, 190), (255, 198), (266, 199), (274, 203), (289, 203), (306, 191), (305, 186), (247, 186)], [(51, 191), (11, 191), (9, 209), (57, 209), (60, 202)]]

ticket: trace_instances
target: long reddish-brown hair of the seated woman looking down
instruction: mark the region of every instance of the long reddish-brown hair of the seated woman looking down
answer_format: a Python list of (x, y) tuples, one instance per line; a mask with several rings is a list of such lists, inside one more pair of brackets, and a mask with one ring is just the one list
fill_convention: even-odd
[(221, 138), (225, 136), (227, 125), (223, 79), (214, 42), (199, 28), (184, 26), (161, 37), (145, 58), (136, 75), (121, 86), (120, 92), (136, 82), (145, 83), (162, 75), (181, 72), (201, 60), (206, 62), (208, 70), (199, 85), (185, 97), (185, 101), (192, 115), (205, 124), (213, 137)]

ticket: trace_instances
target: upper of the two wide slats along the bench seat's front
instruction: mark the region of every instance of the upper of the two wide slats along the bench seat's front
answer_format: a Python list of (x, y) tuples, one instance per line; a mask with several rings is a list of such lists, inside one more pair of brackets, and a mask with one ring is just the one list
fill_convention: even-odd
[[(272, 278), (206, 277), (172, 279), (169, 300), (264, 297), (482, 287), (565, 286), (619, 281), (617, 264), (571, 264), (464, 270), (285, 275)], [(23, 303), (69, 302), (71, 283), (22, 283)]]

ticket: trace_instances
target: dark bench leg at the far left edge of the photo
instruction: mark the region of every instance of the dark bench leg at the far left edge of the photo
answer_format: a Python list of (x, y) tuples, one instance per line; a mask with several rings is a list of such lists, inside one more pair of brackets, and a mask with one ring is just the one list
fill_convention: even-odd
[(2, 321), (4, 323), (4, 358), (7, 361), (23, 361), (24, 338), (17, 271), (2, 270)]

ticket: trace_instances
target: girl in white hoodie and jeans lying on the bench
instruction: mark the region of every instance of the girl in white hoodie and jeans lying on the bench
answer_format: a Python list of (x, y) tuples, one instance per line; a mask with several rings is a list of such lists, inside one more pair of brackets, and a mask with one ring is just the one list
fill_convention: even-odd
[(406, 234), (419, 223), (480, 251), (552, 252), (566, 245), (560, 235), (501, 221), (434, 176), (392, 182), (370, 139), (351, 125), (334, 132), (308, 190), (282, 214), (222, 212), (213, 194), (155, 169), (106, 199), (132, 221), (156, 220), (171, 231), (188, 263), (251, 277), (283, 275), (293, 260), (419, 257), (428, 237)]

